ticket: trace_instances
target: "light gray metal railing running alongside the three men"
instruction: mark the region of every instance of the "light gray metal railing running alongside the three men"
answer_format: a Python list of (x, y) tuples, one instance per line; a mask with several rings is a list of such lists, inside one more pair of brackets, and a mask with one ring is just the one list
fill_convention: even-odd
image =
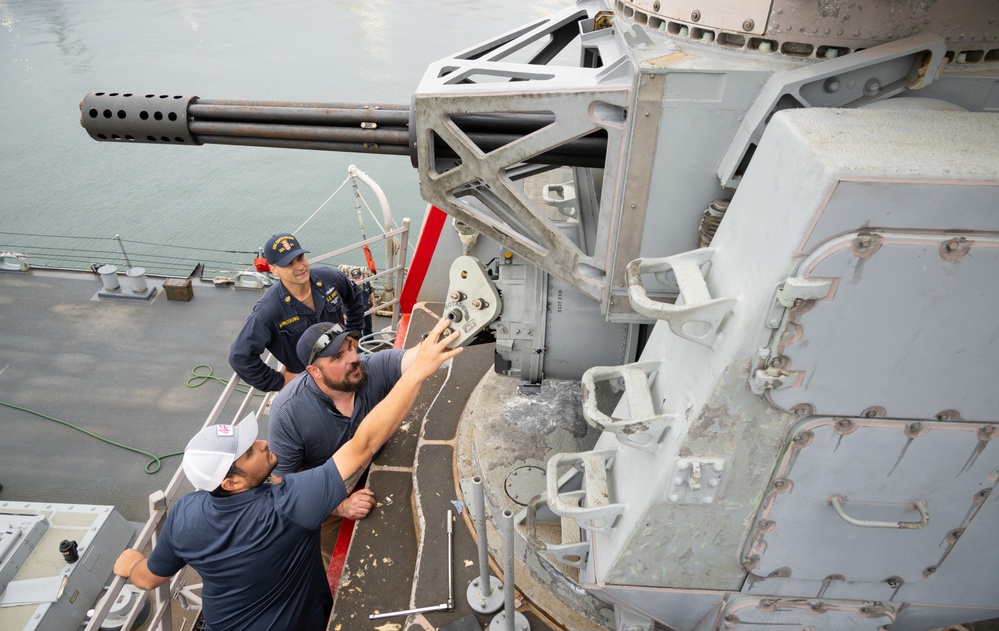
[[(377, 272), (371, 276), (361, 279), (363, 282), (371, 282), (378, 278), (386, 279), (383, 281), (386, 286), (386, 292), (384, 297), (386, 298), (377, 307), (368, 309), (367, 313), (373, 313), (378, 310), (391, 308), (392, 309), (392, 324), (390, 325), (390, 332), (394, 336), (395, 331), (399, 328), (399, 320), (401, 317), (399, 308), (399, 297), (396, 288), (402, 288), (402, 284), (406, 278), (406, 261), (409, 247), (409, 226), (410, 220), (408, 218), (402, 220), (402, 225), (394, 230), (389, 230), (382, 235), (372, 237), (370, 239), (365, 239), (359, 241), (353, 245), (340, 248), (339, 250), (334, 250), (326, 254), (321, 254), (315, 258), (309, 259), (310, 263), (319, 263), (325, 260), (332, 259), (334, 257), (343, 256), (353, 252), (354, 250), (361, 251), (365, 246), (372, 243), (377, 243), (379, 241), (384, 241), (387, 239), (398, 239), (398, 249), (396, 250), (396, 256), (394, 261), (397, 263), (388, 269), (384, 269)], [(394, 241), (389, 241), (386, 245), (387, 247), (394, 247)], [(375, 335), (385, 335), (389, 331), (381, 331)], [(276, 367), (279, 363), (274, 356), (269, 352), (264, 355), (264, 362), (267, 365)], [(202, 427), (208, 427), (209, 425), (217, 425), (222, 419), (223, 412), (229, 404), (230, 399), (234, 393), (237, 392), (237, 387), (241, 385), (239, 375), (233, 373), (226, 383), (225, 388), (222, 390), (222, 394), (219, 396), (218, 400), (215, 402), (214, 407), (212, 407), (211, 412), (208, 414), (208, 418), (205, 420)], [(242, 384), (246, 385), (246, 384)], [(254, 406), (254, 400), (258, 394), (263, 394), (262, 400)], [(256, 414), (257, 418), (267, 410), (270, 405), (270, 400), (274, 393), (261, 393), (255, 388), (249, 387), (246, 394), (243, 396), (236, 409), (235, 414), (233, 414), (231, 423), (233, 425), (239, 423), (240, 419), (244, 418), (248, 412), (251, 410)], [(147, 550), (156, 546), (156, 541), (159, 538), (160, 532), (163, 529), (163, 523), (166, 519), (167, 510), (170, 505), (177, 499), (180, 494), (181, 485), (186, 481), (184, 477), (184, 472), (182, 467), (177, 467), (174, 472), (173, 477), (170, 479), (169, 484), (167, 484), (166, 489), (156, 491), (149, 496), (149, 520), (143, 526), (142, 530), (139, 532), (135, 542), (132, 547), (137, 550)], [(127, 579), (121, 576), (115, 575), (111, 584), (108, 586), (107, 591), (104, 596), (97, 602), (94, 610), (90, 616), (90, 620), (85, 628), (85, 631), (99, 631), (107, 618), (108, 614), (111, 612), (112, 608), (119, 602), (119, 598), (122, 597), (122, 591), (125, 588)], [(187, 584), (184, 579), (184, 572), (178, 572), (170, 578), (169, 581), (149, 590), (152, 596), (152, 606), (150, 607), (149, 618), (145, 623), (145, 628), (148, 631), (172, 631), (173, 630), (173, 611), (172, 611), (172, 600), (176, 596), (180, 597), (182, 606), (190, 610), (200, 610), (201, 609), (201, 597), (198, 594), (200, 591), (200, 584)], [(142, 613), (145, 605), (145, 598), (136, 598), (130, 611), (125, 615), (124, 620), (121, 622), (120, 627), (122, 629), (130, 629), (132, 625), (136, 622), (139, 615)]]

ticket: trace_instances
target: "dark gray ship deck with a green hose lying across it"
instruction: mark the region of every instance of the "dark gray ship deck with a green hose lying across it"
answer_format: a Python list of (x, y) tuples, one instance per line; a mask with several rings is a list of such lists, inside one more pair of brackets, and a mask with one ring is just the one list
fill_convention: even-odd
[(148, 518), (149, 494), (166, 487), (180, 457), (150, 474), (152, 457), (123, 446), (183, 451), (223, 389), (191, 381), (192, 370), (231, 376), (229, 345), (260, 292), (195, 279), (193, 298), (181, 301), (161, 281), (147, 285), (156, 289), (149, 300), (98, 298), (95, 274), (0, 272), (0, 506), (113, 505), (128, 521)]

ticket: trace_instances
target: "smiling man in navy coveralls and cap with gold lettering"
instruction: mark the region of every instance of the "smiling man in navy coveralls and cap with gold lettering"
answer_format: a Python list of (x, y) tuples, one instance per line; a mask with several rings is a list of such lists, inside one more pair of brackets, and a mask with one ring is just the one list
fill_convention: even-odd
[[(264, 244), (264, 256), (281, 282), (254, 305), (229, 350), (229, 364), (257, 390), (280, 390), (305, 366), (296, 353), (298, 338), (317, 322), (338, 322), (351, 330), (364, 326), (364, 297), (347, 275), (334, 267), (309, 266), (298, 239), (276, 234)], [(269, 350), (284, 367), (276, 371), (260, 358)]]

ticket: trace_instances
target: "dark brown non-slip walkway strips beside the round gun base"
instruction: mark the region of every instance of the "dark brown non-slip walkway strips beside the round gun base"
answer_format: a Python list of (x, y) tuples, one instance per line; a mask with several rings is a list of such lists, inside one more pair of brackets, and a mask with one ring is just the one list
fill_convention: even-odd
[[(441, 317), (443, 304), (420, 304), (413, 311), (406, 346), (419, 341)], [(353, 539), (340, 576), (330, 629), (346, 631), (488, 628), (494, 613), (472, 610), (466, 595), (479, 576), (475, 527), (459, 489), (459, 423), (469, 397), (492, 370), (493, 345), (470, 346), (424, 384), (406, 422), (372, 464), (367, 487), (376, 509), (354, 525)], [(455, 504), (459, 502), (459, 504)], [(461, 507), (460, 512), (458, 507)], [(447, 512), (454, 513), (453, 585), (449, 590)], [(502, 548), (497, 533), (490, 547)], [(502, 562), (489, 574), (502, 577)], [(331, 579), (336, 580), (336, 577)], [(519, 578), (518, 578), (519, 581)], [(414, 615), (371, 620), (376, 613), (445, 604), (454, 607)], [(539, 611), (522, 610), (534, 631), (557, 629)]]

